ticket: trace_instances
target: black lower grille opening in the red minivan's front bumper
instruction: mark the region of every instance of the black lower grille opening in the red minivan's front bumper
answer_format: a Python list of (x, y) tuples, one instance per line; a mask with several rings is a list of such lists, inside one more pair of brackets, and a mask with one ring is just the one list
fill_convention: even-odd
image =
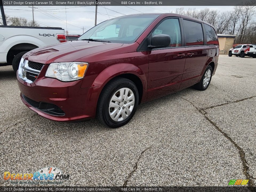
[(53, 105), (51, 103), (45, 103), (45, 102), (37, 102), (34, 101), (25, 95), (22, 95), (23, 99), (31, 105), (32, 107), (37, 108), (40, 111), (43, 111), (44, 113), (50, 114), (50, 115), (55, 115), (55, 116), (63, 116), (65, 115), (64, 111), (59, 108), (57, 105)]

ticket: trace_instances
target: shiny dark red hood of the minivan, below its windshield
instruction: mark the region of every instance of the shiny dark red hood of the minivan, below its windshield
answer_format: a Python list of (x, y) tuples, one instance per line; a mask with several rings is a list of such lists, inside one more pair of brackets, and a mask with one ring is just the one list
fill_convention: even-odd
[(70, 41), (41, 47), (29, 51), (25, 59), (49, 64), (52, 62), (73, 62), (81, 57), (101, 51), (120, 47), (121, 43), (105, 43), (96, 41)]

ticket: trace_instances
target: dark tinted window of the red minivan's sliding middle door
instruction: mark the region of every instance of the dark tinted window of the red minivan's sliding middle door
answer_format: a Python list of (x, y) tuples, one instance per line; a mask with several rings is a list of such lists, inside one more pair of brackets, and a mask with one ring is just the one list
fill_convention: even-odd
[(203, 29), (201, 23), (183, 20), (186, 45), (203, 45)]

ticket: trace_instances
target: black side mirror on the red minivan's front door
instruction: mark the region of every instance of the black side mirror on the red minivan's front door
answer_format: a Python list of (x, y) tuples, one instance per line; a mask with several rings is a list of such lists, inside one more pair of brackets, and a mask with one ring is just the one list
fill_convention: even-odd
[(156, 34), (151, 39), (149, 49), (168, 47), (171, 43), (170, 35)]

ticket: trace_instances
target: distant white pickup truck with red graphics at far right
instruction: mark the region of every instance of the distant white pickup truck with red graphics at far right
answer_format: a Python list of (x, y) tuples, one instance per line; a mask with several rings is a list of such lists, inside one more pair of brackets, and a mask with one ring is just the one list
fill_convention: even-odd
[(256, 58), (256, 45), (244, 44), (237, 45), (229, 50), (229, 57), (235, 55), (236, 57), (253, 57)]

